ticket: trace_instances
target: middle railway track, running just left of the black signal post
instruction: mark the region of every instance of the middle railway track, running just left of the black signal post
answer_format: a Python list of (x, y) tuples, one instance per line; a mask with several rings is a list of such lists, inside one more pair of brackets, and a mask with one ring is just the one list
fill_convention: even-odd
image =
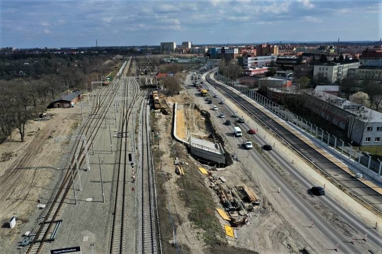
[[(121, 117), (121, 128), (120, 131), (122, 133), (120, 142), (119, 142), (119, 164), (118, 164), (118, 173), (117, 173), (117, 187), (116, 187), (116, 195), (115, 195), (115, 203), (114, 203), (114, 217), (113, 217), (113, 226), (112, 226), (112, 236), (111, 236), (111, 244), (110, 244), (110, 253), (111, 254), (123, 254), (128, 253), (125, 248), (125, 208), (126, 208), (126, 192), (128, 191), (128, 187), (126, 186), (126, 182), (130, 181), (127, 176), (127, 170), (130, 166), (128, 163), (128, 137), (127, 133), (129, 132), (129, 125), (131, 123), (131, 116), (133, 113), (134, 105), (136, 100), (142, 96), (143, 92), (139, 93), (139, 85), (132, 81), (128, 85), (131, 84), (131, 88), (133, 89), (132, 96), (129, 95), (128, 85), (124, 91), (124, 95), (126, 98), (130, 98), (131, 102), (127, 103), (126, 100), (123, 101), (123, 110)], [(131, 140), (129, 140), (131, 141)]]

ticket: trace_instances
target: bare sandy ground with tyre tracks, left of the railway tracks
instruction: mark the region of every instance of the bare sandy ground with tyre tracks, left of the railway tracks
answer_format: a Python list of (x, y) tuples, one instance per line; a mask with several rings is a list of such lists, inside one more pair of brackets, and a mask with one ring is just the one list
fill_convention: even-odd
[[(12, 139), (0, 144), (0, 235), (5, 236), (0, 237), (0, 246), (13, 244), (21, 236), (23, 223), (37, 210), (37, 200), (61, 172), (55, 165), (68, 141), (57, 137), (69, 135), (82, 120), (80, 106), (48, 112), (54, 114), (50, 120), (28, 122), (24, 143), (15, 130)], [(9, 229), (6, 222), (12, 216), (17, 223)]]

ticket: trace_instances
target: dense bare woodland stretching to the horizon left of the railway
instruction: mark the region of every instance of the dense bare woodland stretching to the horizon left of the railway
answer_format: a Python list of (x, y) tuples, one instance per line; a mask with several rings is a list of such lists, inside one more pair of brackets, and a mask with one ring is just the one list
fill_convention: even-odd
[[(86, 84), (99, 81), (120, 61), (104, 55), (100, 59), (70, 56), (51, 57), (31, 62), (27, 75), (13, 78), (0, 76), (0, 140), (17, 129), (21, 142), (28, 120), (38, 118), (47, 106), (63, 91), (85, 90)], [(106, 61), (105, 61), (106, 60)], [(19, 67), (25, 59), (0, 59), (1, 65), (10, 66), (6, 71)], [(16, 62), (16, 63), (15, 63)], [(5, 64), (9, 63), (9, 64)], [(13, 67), (12, 67), (13, 66)], [(4, 73), (4, 72), (2, 72)], [(91, 86), (87, 87), (91, 90)]]

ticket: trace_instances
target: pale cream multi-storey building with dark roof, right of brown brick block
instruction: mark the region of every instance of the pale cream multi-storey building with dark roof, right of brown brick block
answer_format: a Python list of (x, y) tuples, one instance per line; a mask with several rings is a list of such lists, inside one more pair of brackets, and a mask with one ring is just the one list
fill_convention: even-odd
[(313, 76), (321, 74), (323, 77), (328, 78), (332, 83), (337, 80), (342, 80), (347, 77), (350, 68), (358, 68), (359, 62), (343, 62), (343, 63), (323, 63), (321, 65), (314, 65)]

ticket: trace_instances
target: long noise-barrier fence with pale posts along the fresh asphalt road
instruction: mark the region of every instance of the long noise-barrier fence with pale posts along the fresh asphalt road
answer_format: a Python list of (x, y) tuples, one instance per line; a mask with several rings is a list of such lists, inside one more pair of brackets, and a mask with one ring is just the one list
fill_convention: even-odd
[[(323, 130), (320, 127), (317, 127), (310, 123), (309, 121), (303, 119), (302, 117), (290, 112), (285, 107), (269, 100), (265, 96), (257, 93), (257, 91), (253, 89), (249, 89), (247, 86), (239, 85), (239, 82), (233, 81), (224, 77), (223, 75), (216, 74), (217, 80), (224, 83), (225, 85), (229, 85), (262, 106), (268, 108), (280, 118), (286, 120), (287, 122), (295, 125), (300, 128), (302, 131), (310, 134), (311, 137), (315, 138), (318, 141), (321, 141), (329, 148), (333, 148), (337, 150), (341, 155), (348, 156), (352, 158), (359, 165), (364, 166), (367, 169), (370, 169), (372, 172), (369, 173), (370, 176), (375, 177), (376, 174), (381, 175), (382, 169), (382, 161), (372, 160), (369, 153), (362, 153), (359, 149), (354, 150), (352, 144), (345, 144), (341, 139), (337, 139), (334, 135), (330, 134), (328, 131)], [(364, 170), (362, 170), (364, 171)]]

